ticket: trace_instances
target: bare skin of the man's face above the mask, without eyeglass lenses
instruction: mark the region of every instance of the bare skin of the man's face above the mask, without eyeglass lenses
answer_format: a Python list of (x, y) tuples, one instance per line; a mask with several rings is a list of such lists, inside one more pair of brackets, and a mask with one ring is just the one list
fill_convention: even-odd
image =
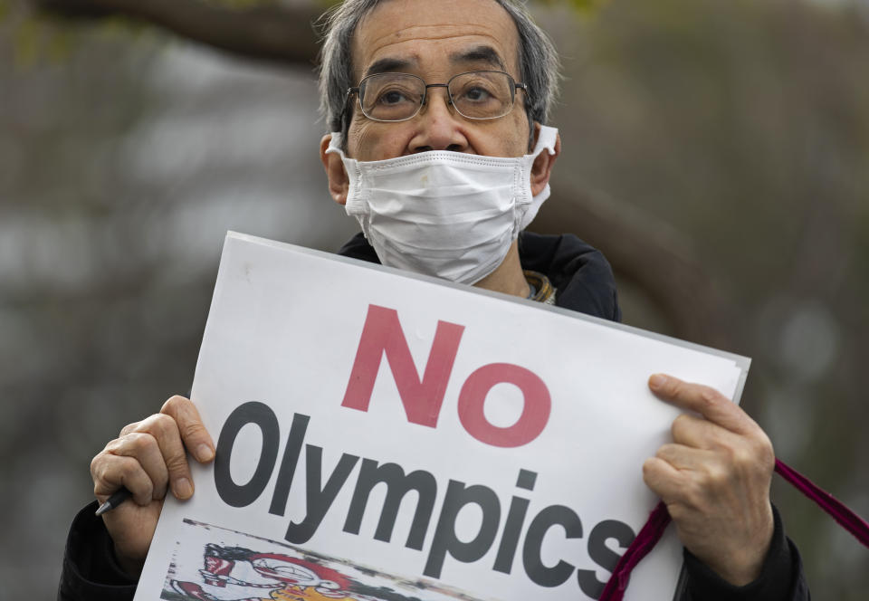
[[(490, 70), (520, 81), (519, 36), (510, 14), (494, 0), (385, 0), (358, 24), (353, 40), (356, 82), (374, 72), (405, 72), (426, 83), (457, 73)], [(489, 120), (465, 119), (448, 104), (445, 88), (430, 88), (413, 119), (382, 123), (353, 110), (348, 155), (370, 161), (425, 150), (491, 157), (528, 152), (524, 92), (513, 110)]]

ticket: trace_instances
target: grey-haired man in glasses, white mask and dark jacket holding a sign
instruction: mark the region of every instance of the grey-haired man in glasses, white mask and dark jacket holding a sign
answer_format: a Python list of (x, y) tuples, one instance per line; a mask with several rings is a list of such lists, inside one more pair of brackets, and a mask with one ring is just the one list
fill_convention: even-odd
[[(329, 193), (363, 234), (342, 254), (619, 319), (606, 261), (572, 236), (521, 233), (549, 196), (560, 140), (544, 127), (557, 59), (514, 0), (347, 0), (329, 18), (320, 143)], [(767, 436), (717, 392), (650, 377), (691, 410), (643, 468), (685, 548), (682, 599), (807, 599), (797, 550), (769, 502)], [(214, 457), (186, 398), (127, 425), (91, 463), (105, 501), (72, 526), (62, 599), (129, 599), (163, 499), (194, 491), (186, 452)], [(566, 457), (565, 461), (571, 461)], [(637, 473), (641, 466), (637, 466)], [(197, 597), (191, 597), (197, 598)]]

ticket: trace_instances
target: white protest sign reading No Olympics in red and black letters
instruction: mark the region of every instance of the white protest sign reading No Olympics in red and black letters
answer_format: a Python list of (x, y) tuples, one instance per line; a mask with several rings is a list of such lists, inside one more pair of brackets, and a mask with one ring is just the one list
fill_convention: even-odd
[[(145, 599), (594, 599), (656, 499), (675, 408), (749, 361), (227, 234), (192, 398), (215, 438), (167, 500)], [(625, 598), (670, 601), (672, 529)]]

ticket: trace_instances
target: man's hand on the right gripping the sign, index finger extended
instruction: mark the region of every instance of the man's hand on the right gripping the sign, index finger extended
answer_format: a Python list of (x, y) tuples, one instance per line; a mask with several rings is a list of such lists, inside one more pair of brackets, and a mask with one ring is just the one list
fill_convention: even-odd
[(774, 522), (767, 434), (720, 392), (669, 376), (649, 378), (656, 396), (697, 415), (673, 421), (673, 443), (643, 465), (686, 549), (733, 585), (760, 574)]

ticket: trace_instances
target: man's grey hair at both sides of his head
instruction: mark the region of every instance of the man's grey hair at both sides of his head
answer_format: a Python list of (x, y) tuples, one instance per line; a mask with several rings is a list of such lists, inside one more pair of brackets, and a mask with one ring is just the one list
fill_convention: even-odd
[[(359, 21), (382, 0), (344, 0), (323, 15), (320, 23), (320, 113), (329, 131), (340, 131), (347, 139), (348, 123), (342, 123), (347, 91), (353, 81), (352, 42)], [(559, 91), (559, 56), (549, 36), (535, 24), (521, 0), (494, 0), (512, 17), (519, 32), (519, 72), (528, 86), (525, 110), (530, 123), (546, 124), (549, 110)], [(530, 139), (533, 139), (531, 128)], [(346, 143), (346, 142), (345, 142)]]

